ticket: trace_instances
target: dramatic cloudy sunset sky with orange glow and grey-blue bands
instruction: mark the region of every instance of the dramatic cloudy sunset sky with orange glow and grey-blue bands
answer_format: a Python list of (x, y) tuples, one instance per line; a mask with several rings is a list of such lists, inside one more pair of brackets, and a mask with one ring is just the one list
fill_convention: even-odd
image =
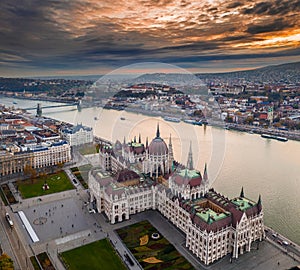
[(300, 0), (1, 0), (0, 76), (192, 72), (300, 60)]

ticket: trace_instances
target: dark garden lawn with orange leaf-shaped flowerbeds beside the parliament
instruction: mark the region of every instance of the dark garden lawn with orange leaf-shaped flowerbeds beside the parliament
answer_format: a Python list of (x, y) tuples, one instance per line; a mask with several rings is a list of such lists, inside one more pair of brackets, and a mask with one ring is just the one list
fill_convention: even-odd
[[(194, 269), (148, 221), (118, 229), (117, 233), (145, 270)], [(159, 233), (161, 237), (154, 240), (151, 238), (153, 233)], [(147, 237), (148, 241), (146, 241), (146, 244), (141, 244), (141, 239), (144, 237)], [(157, 262), (149, 262), (149, 258), (155, 258)]]

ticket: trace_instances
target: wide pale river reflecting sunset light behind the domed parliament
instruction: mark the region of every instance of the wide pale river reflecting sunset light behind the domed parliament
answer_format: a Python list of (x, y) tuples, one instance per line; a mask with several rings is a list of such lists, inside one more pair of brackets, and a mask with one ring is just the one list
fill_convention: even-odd
[[(17, 101), (17, 104), (13, 104)], [(38, 101), (1, 98), (7, 106), (28, 108)], [(40, 102), (42, 106), (50, 102)], [(54, 104), (54, 103), (51, 103)], [(262, 196), (265, 224), (300, 244), (300, 142), (279, 142), (221, 128), (166, 122), (126, 111), (100, 108), (44, 109), (45, 116), (94, 128), (95, 135), (116, 141), (155, 137), (159, 123), (166, 143), (171, 135), (175, 159), (186, 163), (191, 143), (194, 166), (203, 171), (208, 164), (211, 185), (232, 198), (244, 187), (246, 197)]]

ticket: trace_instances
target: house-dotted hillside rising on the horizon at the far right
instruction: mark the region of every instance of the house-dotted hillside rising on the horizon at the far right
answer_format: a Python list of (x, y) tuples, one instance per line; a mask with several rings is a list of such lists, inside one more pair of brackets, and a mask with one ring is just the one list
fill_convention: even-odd
[(300, 62), (226, 73), (200, 73), (196, 76), (203, 80), (243, 78), (252, 82), (300, 83)]

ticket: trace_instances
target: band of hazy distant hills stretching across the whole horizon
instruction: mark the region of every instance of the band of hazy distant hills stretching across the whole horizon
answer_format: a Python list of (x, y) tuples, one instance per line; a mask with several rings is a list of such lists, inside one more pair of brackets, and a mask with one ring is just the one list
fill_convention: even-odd
[[(200, 79), (200, 80), (199, 80)], [(103, 77), (96, 75), (88, 76), (62, 76), (62, 77), (39, 77), (39, 78), (1, 78), (0, 77), (0, 93), (2, 91), (14, 92), (43, 92), (53, 91), (56, 93), (65, 92), (71, 89), (86, 90), (95, 81), (98, 84), (108, 85), (108, 89), (104, 92), (115, 92), (120, 89), (121, 85), (132, 85), (139, 83), (158, 83), (169, 86), (186, 86), (209, 84), (214, 80), (222, 80), (228, 82), (236, 82), (243, 84), (244, 82), (253, 83), (278, 83), (278, 84), (300, 84), (300, 62), (286, 63), (281, 65), (267, 66), (263, 68), (226, 72), (226, 73), (151, 73), (136, 75), (114, 75), (108, 74)], [(202, 81), (202, 82), (201, 82)], [(200, 83), (200, 85), (199, 85)], [(102, 91), (102, 90), (101, 90)]]

